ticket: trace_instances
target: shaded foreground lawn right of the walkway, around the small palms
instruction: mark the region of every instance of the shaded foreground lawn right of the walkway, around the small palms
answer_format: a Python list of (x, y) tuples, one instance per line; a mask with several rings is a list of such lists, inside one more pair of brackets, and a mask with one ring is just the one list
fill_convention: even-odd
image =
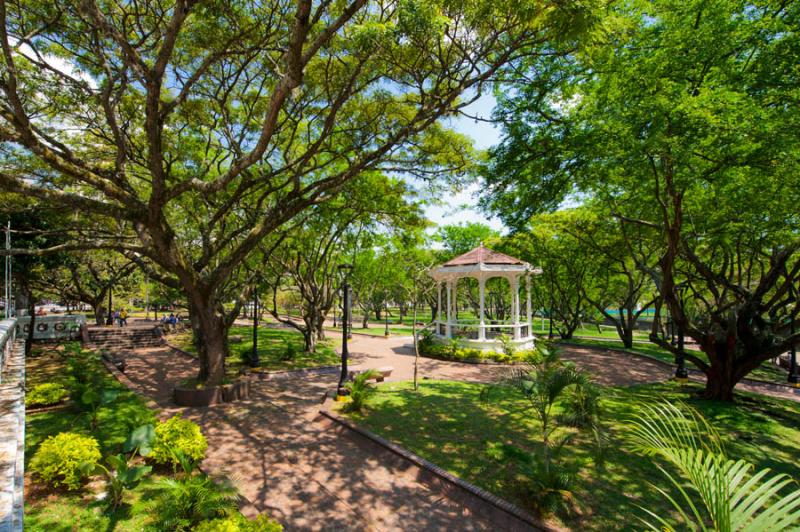
[[(489, 402), (480, 399), (484, 385), (422, 381), (419, 393), (410, 382), (386, 383), (370, 398), (365, 414), (351, 414), (365, 428), (399, 443), (431, 462), (522, 507), (529, 504), (515, 473), (512, 454), (503, 444), (536, 449), (540, 425), (514, 390), (498, 389)], [(576, 509), (560, 516), (574, 530), (638, 530), (638, 506), (673, 515), (669, 503), (649, 484), (668, 487), (650, 459), (627, 449), (626, 419), (645, 401), (685, 400), (723, 434), (730, 457), (770, 467), (797, 478), (800, 463), (800, 404), (739, 395), (735, 405), (690, 399), (695, 386), (673, 383), (606, 388), (603, 425), (610, 445), (604, 468), (595, 465), (591, 435), (575, 429), (565, 463), (581, 468), (574, 492)], [(674, 515), (673, 515), (674, 517)]]

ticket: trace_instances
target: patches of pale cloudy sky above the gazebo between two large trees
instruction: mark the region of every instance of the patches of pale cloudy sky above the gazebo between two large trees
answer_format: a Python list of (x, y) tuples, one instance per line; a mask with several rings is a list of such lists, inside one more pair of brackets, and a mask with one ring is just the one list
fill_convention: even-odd
[[(489, 118), (494, 108), (495, 100), (491, 94), (485, 94), (468, 106), (465, 111), (469, 115)], [(471, 118), (460, 116), (450, 120), (451, 126), (458, 132), (468, 135), (475, 141), (475, 147), (486, 149), (500, 141), (500, 130), (492, 124), (474, 121)], [(477, 207), (476, 195), (480, 192), (478, 185), (455, 194), (445, 200), (443, 205), (429, 206), (426, 214), (430, 220), (438, 225), (457, 224), (461, 222), (481, 222), (497, 231), (503, 231), (502, 222), (494, 217), (487, 217)]]

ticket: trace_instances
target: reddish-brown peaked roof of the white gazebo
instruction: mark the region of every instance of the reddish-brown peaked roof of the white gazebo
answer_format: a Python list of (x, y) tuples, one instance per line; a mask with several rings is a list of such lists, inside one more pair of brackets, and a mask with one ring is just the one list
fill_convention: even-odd
[(541, 270), (504, 253), (492, 251), (483, 244), (459, 255), (444, 264), (432, 268), (429, 275), (436, 280), (458, 279), (461, 277), (488, 278), (495, 276), (519, 277), (538, 274)]

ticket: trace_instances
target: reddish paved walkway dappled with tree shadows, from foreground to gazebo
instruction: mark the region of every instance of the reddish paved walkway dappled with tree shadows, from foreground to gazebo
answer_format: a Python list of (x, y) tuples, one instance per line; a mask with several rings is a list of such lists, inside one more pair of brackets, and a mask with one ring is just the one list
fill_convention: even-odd
[[(370, 355), (372, 343), (359, 338), (353, 342), (354, 359), (370, 366), (391, 360), (393, 378), (410, 378), (413, 356), (393, 355), (390, 347), (402, 351), (403, 342), (376, 341), (390, 351)], [(429, 377), (467, 380), (488, 380), (496, 371), (431, 360), (423, 360), (422, 367)], [(237, 482), (252, 502), (246, 513), (268, 512), (288, 530), (495, 528), (421, 483), (416, 470), (393, 454), (354, 439), (319, 416), (322, 396), (335, 388), (338, 375), (254, 381), (248, 401), (209, 408), (173, 406), (173, 385), (195, 372), (188, 357), (168, 349), (140, 349), (128, 358), (125, 374), (137, 391), (164, 408), (164, 417), (182, 413), (201, 425), (209, 441), (204, 467)]]

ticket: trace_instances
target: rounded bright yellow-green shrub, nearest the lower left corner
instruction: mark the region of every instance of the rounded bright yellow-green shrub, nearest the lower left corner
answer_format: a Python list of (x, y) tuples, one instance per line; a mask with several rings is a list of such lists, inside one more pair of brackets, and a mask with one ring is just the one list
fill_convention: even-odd
[(47, 438), (30, 463), (30, 469), (54, 487), (78, 489), (86, 476), (82, 469), (100, 460), (100, 445), (91, 436), (62, 432)]

